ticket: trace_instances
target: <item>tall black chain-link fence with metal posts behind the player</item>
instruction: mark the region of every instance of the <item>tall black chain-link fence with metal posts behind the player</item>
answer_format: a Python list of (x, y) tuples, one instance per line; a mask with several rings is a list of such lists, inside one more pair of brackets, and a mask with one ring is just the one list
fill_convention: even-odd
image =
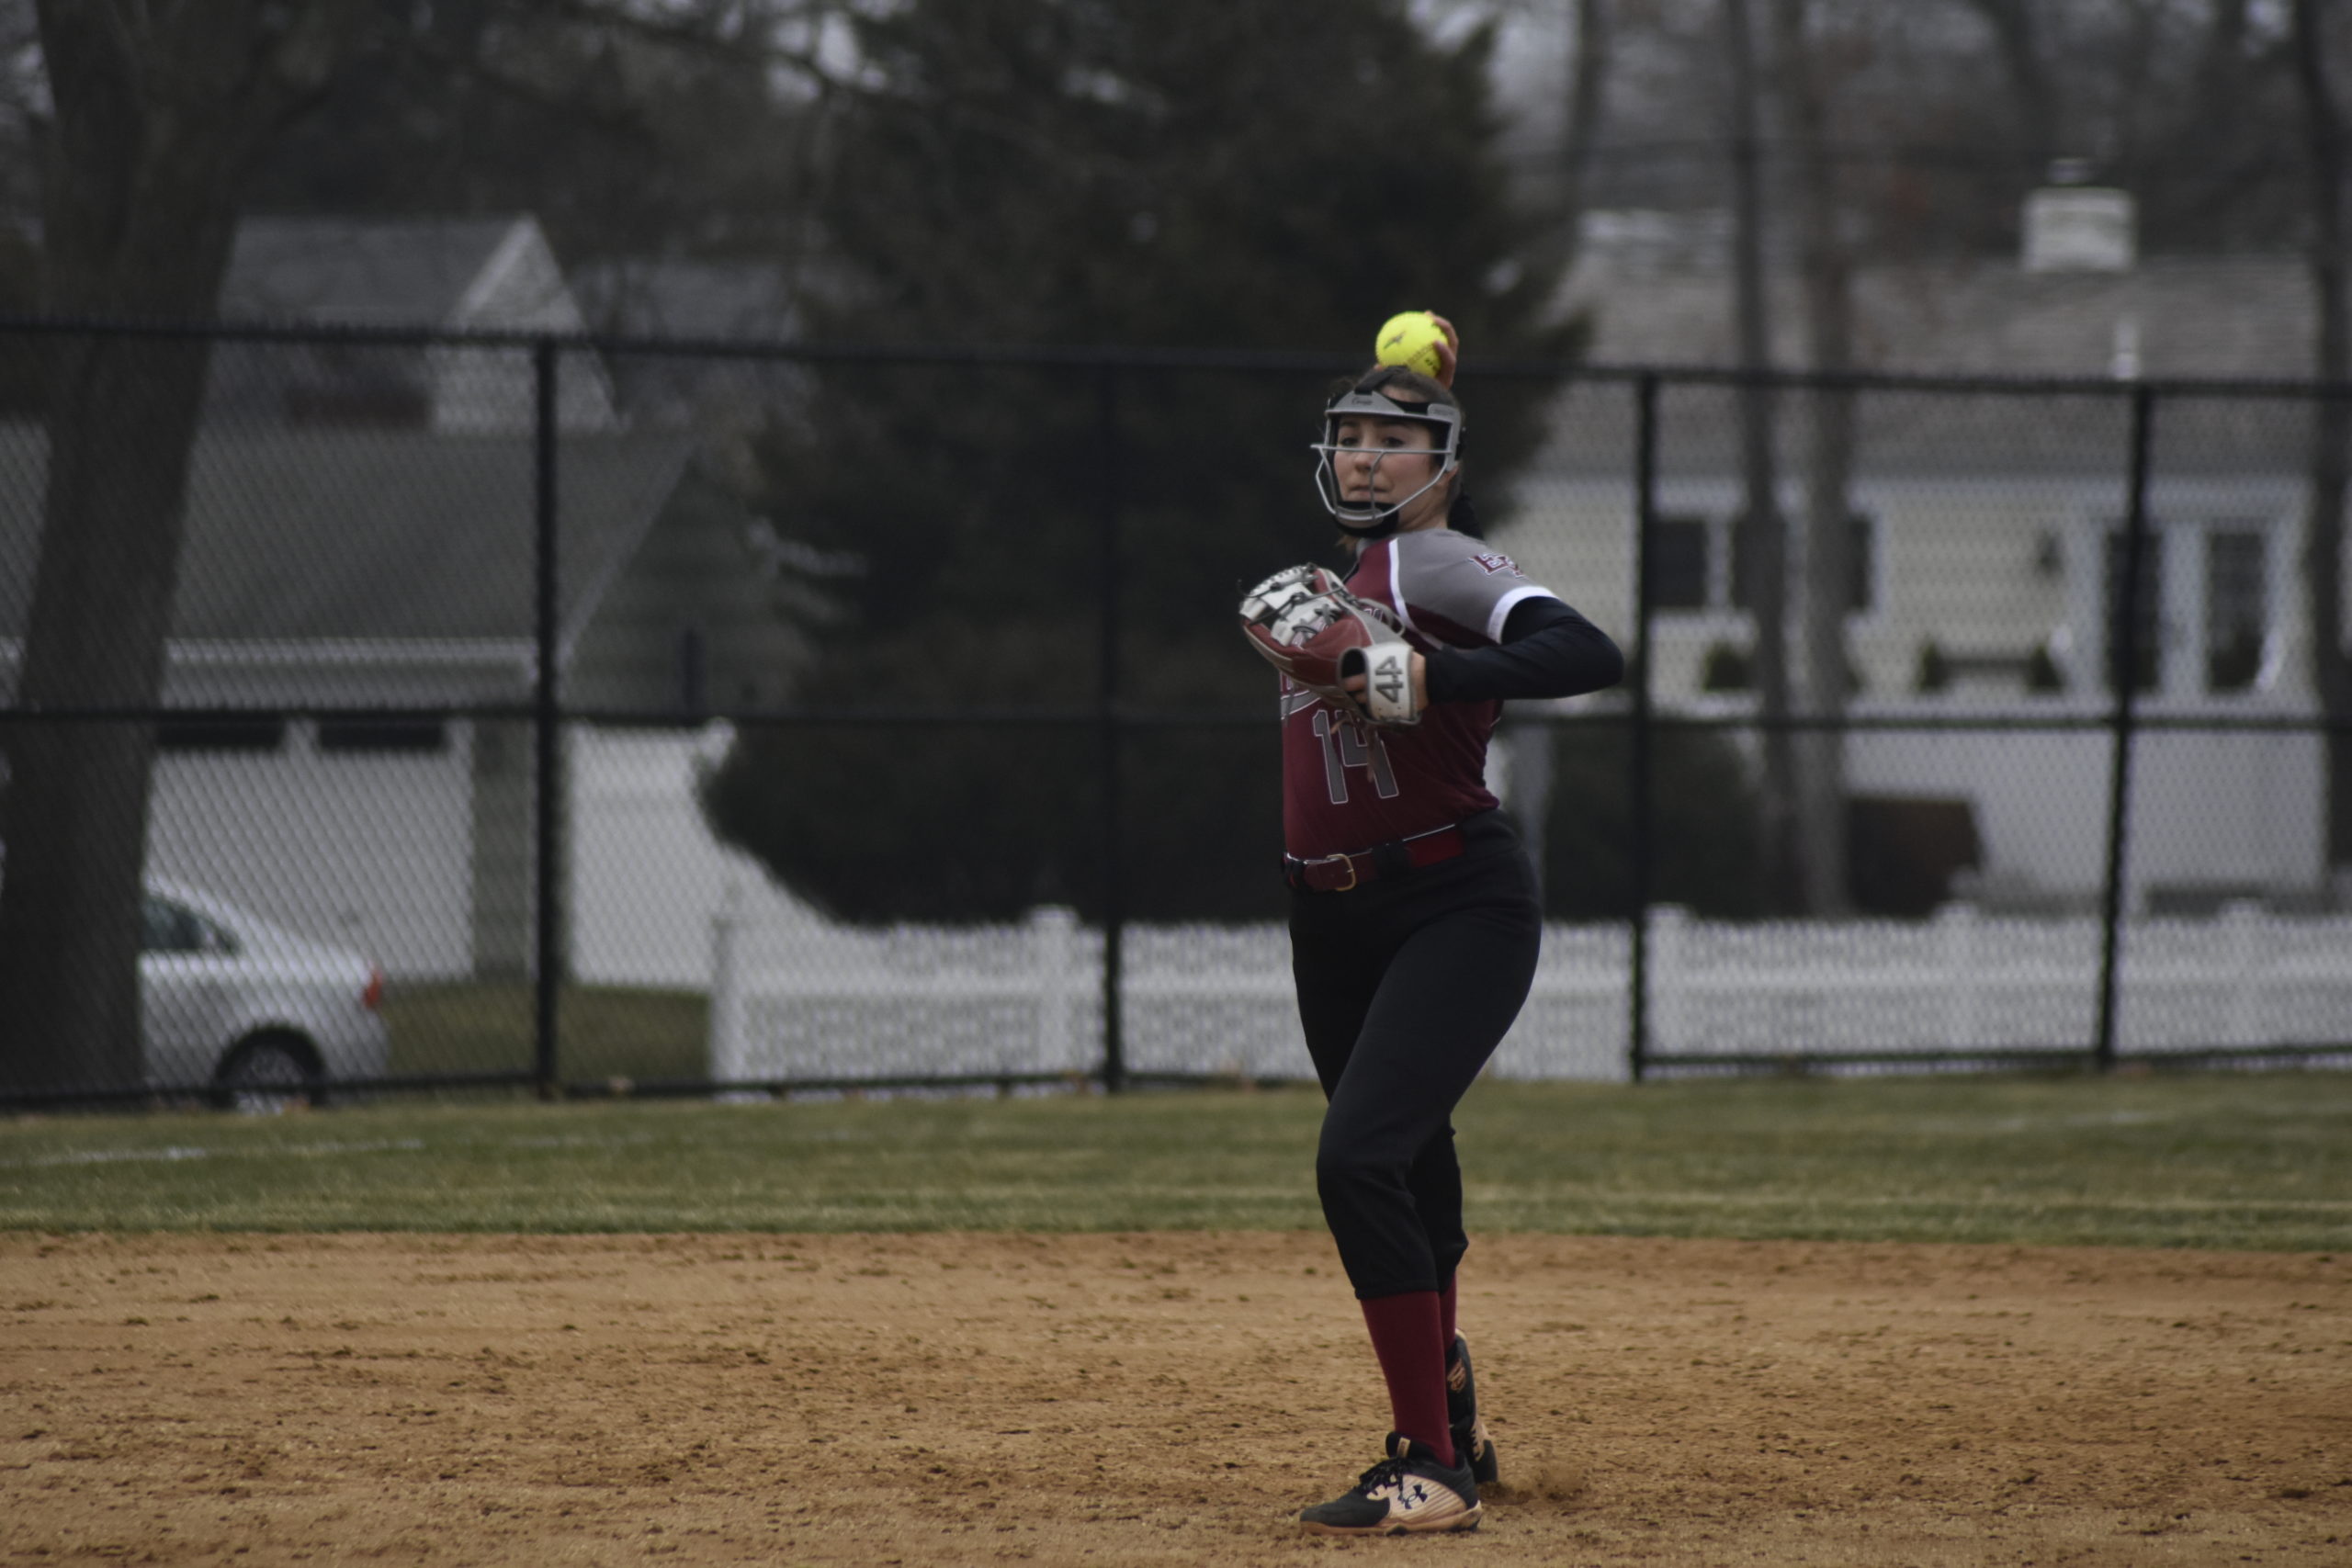
[[(1308, 1077), (1230, 616), (1345, 369), (0, 327), (0, 1098)], [(2352, 404), (1463, 393), (1632, 656), (1496, 736), (1498, 1074), (2352, 1056)]]

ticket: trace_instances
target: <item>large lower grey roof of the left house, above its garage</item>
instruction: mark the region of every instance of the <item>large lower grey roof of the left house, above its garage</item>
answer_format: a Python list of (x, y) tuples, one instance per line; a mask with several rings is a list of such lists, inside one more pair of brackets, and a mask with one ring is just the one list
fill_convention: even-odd
[[(0, 637), (33, 595), (45, 435), (0, 425)], [(673, 435), (567, 437), (557, 607), (569, 644), (677, 484)], [(522, 639), (534, 628), (532, 444), (426, 430), (198, 440), (174, 639)]]

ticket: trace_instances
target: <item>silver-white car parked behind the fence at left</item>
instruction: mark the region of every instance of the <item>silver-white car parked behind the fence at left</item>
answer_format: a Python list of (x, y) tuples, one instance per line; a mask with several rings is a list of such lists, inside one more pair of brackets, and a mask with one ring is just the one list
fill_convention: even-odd
[(209, 1086), (247, 1110), (320, 1098), (322, 1079), (381, 1079), (383, 971), (219, 898), (148, 882), (139, 1011), (148, 1081)]

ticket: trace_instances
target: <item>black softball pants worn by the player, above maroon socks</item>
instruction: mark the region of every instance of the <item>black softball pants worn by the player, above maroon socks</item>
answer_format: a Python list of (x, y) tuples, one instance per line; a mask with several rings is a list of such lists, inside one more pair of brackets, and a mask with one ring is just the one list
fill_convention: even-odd
[(1470, 1248), (1454, 1107), (1536, 978), (1543, 912), (1510, 823), (1345, 893), (1291, 893), (1298, 1023), (1322, 1079), (1315, 1190), (1357, 1298), (1442, 1291)]

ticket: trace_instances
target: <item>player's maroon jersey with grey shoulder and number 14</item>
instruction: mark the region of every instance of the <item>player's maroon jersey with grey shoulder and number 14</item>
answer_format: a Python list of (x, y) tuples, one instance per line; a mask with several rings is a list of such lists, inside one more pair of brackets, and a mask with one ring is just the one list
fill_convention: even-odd
[[(1524, 599), (1557, 599), (1508, 555), (1451, 529), (1416, 529), (1357, 552), (1348, 588), (1385, 609), (1421, 654), (1486, 649)], [(1501, 701), (1430, 703), (1411, 729), (1374, 729), (1282, 682), (1282, 844), (1355, 853), (1494, 809), (1486, 741)]]

